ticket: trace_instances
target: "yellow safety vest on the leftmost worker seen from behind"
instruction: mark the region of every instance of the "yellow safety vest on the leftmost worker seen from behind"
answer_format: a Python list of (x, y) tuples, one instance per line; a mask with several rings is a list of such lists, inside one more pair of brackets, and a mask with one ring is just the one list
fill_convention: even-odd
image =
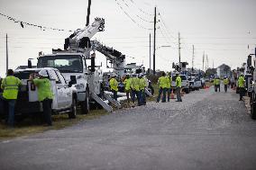
[(17, 99), (20, 85), (22, 85), (22, 82), (19, 78), (6, 76), (1, 85), (1, 88), (4, 89), (3, 97), (5, 99)]

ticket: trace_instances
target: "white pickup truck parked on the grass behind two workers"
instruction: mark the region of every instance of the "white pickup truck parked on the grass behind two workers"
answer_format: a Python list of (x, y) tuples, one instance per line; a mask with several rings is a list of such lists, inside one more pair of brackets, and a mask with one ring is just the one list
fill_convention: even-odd
[(32, 73), (38, 73), (41, 69), (47, 70), (51, 90), (54, 94), (51, 104), (52, 113), (68, 113), (69, 119), (76, 118), (78, 94), (76, 88), (71, 87), (76, 84), (76, 79), (67, 82), (59, 70), (52, 67), (14, 70), (14, 76), (20, 78), (23, 83), (18, 94), (15, 114), (42, 112), (41, 103), (38, 101), (37, 87), (29, 80)]

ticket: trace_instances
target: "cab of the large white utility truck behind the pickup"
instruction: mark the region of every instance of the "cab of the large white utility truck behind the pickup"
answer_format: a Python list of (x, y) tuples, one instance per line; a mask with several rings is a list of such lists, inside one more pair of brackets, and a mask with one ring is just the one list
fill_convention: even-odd
[[(96, 69), (94, 72), (88, 71), (87, 59), (82, 53), (65, 53), (65, 51), (55, 54), (42, 55), (38, 58), (37, 67), (54, 67), (67, 81), (75, 77), (76, 84), (72, 85), (78, 92), (78, 104), (80, 104), (82, 113), (89, 112), (90, 92), (100, 95), (102, 92), (102, 70)], [(93, 82), (89, 82), (92, 80)]]

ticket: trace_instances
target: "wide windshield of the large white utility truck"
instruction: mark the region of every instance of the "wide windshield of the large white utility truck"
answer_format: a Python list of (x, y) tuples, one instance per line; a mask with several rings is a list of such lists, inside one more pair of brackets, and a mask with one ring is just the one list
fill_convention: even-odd
[(38, 67), (55, 67), (61, 73), (82, 73), (82, 59), (78, 55), (44, 56), (38, 58)]

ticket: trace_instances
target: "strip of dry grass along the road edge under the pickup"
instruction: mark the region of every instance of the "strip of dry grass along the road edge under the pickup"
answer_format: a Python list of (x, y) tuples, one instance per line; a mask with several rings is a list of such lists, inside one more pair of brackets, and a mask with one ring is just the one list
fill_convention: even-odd
[(15, 125), (14, 128), (8, 128), (4, 121), (0, 122), (0, 139), (12, 139), (16, 137), (28, 136), (35, 133), (41, 133), (46, 130), (61, 130), (81, 121), (98, 119), (108, 113), (105, 110), (90, 111), (89, 114), (78, 114), (76, 119), (69, 119), (68, 114), (53, 115), (52, 126), (43, 126), (40, 122), (27, 118)]

